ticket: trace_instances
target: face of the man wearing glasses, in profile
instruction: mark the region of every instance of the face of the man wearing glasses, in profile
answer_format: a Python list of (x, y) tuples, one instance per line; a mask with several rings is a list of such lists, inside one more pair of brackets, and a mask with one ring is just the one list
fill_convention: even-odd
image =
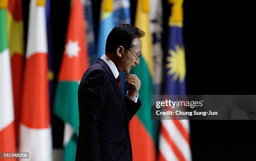
[[(135, 65), (139, 64), (139, 59), (136, 60), (136, 53), (141, 54), (141, 39), (135, 38), (132, 42), (132, 47), (129, 50), (124, 50), (122, 57), (120, 57), (120, 71), (124, 73), (130, 73), (131, 69), (135, 67)], [(132, 51), (131, 51), (132, 50)], [(136, 52), (136, 53), (134, 53)]]

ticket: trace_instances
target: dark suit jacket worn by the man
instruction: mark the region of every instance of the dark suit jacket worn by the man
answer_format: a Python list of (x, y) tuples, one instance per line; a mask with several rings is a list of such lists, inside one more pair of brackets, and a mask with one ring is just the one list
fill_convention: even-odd
[(129, 121), (141, 107), (122, 96), (108, 64), (98, 59), (78, 89), (76, 161), (132, 161)]

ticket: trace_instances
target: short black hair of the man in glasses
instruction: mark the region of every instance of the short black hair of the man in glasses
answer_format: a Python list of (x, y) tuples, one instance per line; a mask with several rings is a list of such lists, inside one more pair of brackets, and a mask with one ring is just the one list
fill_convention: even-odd
[(138, 27), (129, 24), (119, 24), (108, 34), (105, 52), (109, 54), (114, 53), (119, 46), (129, 49), (132, 47), (131, 43), (135, 38), (144, 36), (145, 32)]

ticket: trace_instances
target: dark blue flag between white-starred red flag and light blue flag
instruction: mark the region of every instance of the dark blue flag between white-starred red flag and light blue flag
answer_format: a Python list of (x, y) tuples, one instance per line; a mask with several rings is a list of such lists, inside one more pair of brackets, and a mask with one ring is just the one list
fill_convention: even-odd
[(97, 59), (97, 55), (95, 53), (95, 34), (92, 15), (92, 1), (82, 0), (82, 2), (84, 7), (84, 23), (86, 30), (88, 62), (91, 65)]

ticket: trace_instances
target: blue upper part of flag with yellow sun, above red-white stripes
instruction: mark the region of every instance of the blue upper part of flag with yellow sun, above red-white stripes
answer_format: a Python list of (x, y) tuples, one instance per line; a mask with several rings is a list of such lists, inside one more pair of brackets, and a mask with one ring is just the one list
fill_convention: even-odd
[[(178, 1), (182, 2), (182, 1)], [(169, 40), (166, 54), (164, 94), (186, 94), (186, 62), (183, 45), (183, 15), (179, 4), (172, 7), (169, 18)], [(182, 5), (182, 4), (181, 4)]]

